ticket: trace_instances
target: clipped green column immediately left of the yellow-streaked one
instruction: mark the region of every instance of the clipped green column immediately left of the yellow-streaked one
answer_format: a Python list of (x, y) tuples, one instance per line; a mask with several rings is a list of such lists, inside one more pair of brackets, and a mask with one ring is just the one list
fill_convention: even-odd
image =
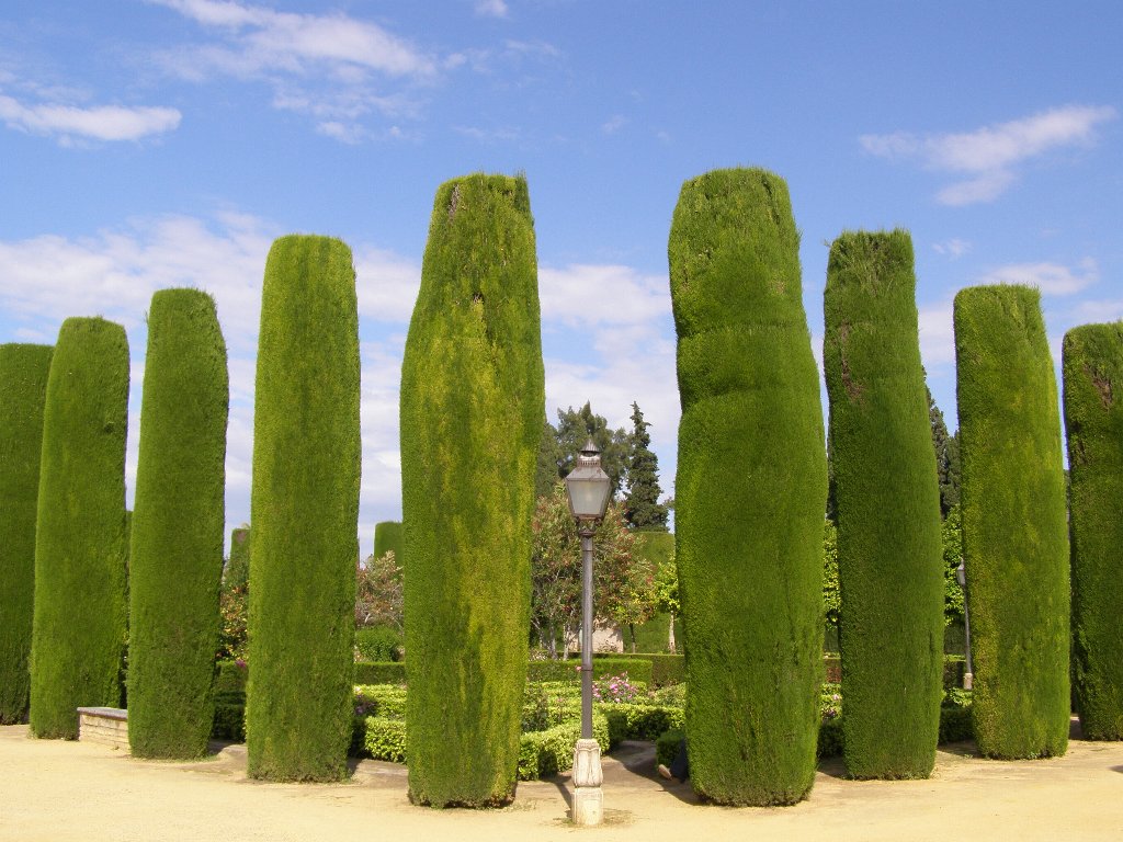
[(254, 408), (252, 777), (347, 774), (360, 457), (350, 249), (282, 237), (265, 265)]

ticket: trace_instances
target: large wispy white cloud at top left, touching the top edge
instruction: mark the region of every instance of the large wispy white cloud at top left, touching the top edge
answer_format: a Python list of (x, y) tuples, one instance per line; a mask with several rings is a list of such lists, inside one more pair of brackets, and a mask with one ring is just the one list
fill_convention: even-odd
[(165, 52), (158, 62), (193, 82), (214, 76), (272, 85), (274, 108), (310, 115), (317, 130), (344, 143), (381, 137), (372, 113), (416, 117), (416, 97), (438, 61), (377, 24), (340, 12), (282, 12), (238, 0), (148, 0), (198, 24), (211, 40)]

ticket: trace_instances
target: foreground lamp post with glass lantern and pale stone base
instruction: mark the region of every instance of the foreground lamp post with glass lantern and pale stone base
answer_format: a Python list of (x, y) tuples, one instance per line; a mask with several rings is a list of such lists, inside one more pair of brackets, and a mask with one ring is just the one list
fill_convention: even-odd
[(577, 457), (577, 466), (565, 478), (569, 511), (581, 536), (581, 739), (573, 752), (573, 821), (601, 823), (601, 747), (593, 739), (593, 532), (604, 518), (612, 481), (601, 469), (601, 451), (590, 438)]

